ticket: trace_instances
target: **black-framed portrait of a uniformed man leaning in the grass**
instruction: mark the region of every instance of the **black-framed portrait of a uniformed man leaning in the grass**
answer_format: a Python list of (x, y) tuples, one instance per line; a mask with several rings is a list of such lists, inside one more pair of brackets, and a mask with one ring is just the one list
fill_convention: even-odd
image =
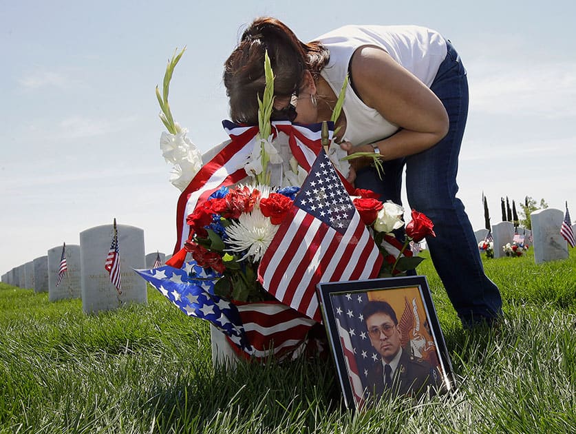
[(319, 283), (317, 292), (349, 409), (455, 387), (425, 276)]

